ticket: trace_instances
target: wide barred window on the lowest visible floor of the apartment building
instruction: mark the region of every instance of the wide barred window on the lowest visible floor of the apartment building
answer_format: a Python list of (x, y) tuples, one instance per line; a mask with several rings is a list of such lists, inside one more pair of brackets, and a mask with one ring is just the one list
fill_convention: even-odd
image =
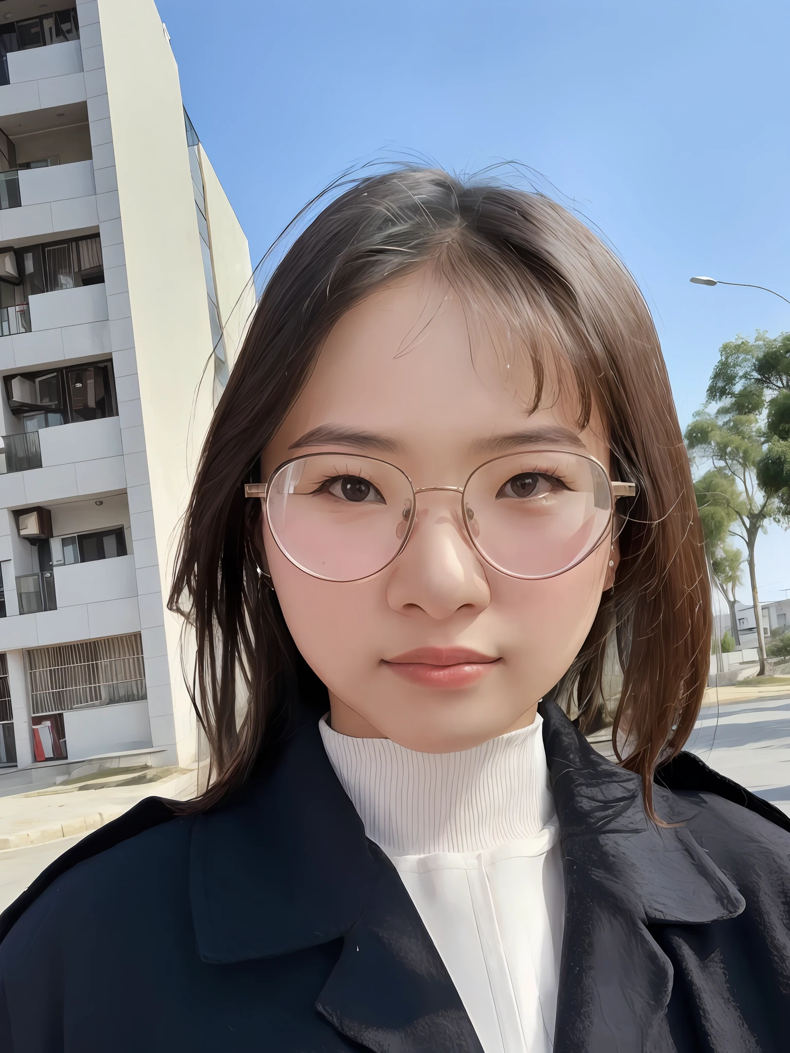
[(146, 697), (139, 633), (26, 654), (34, 717)]

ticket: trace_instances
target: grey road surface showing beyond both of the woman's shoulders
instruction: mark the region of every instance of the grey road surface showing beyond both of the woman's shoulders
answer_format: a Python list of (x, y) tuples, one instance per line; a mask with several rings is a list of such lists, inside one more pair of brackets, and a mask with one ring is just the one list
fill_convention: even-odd
[[(686, 749), (790, 815), (790, 697), (706, 707)], [(0, 910), (79, 839), (0, 852)]]

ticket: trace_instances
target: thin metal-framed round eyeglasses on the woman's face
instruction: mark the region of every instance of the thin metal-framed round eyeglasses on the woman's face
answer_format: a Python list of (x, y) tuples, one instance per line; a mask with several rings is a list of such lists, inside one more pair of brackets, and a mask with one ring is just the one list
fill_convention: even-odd
[(463, 486), (415, 490), (394, 464), (348, 453), (295, 457), (268, 482), (244, 485), (263, 500), (283, 555), (325, 581), (382, 571), (409, 541), (417, 494), (438, 491), (460, 496), (459, 524), (487, 563), (514, 578), (550, 578), (600, 544), (614, 502), (636, 486), (613, 482), (594, 457), (557, 450), (495, 457)]

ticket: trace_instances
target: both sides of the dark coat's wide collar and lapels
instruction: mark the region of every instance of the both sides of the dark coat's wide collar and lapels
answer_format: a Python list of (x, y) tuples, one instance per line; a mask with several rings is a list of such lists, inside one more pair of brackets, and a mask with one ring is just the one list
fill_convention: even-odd
[[(639, 776), (597, 754), (553, 702), (540, 712), (566, 885), (555, 1053), (671, 1049), (672, 968), (647, 925), (732, 917), (744, 900), (683, 826), (650, 822)], [(656, 801), (667, 821), (689, 817), (667, 791), (656, 789)], [(338, 1030), (382, 1053), (479, 1053), (395, 869), (332, 771), (314, 715), (232, 802), (197, 818), (190, 880), (203, 960), (341, 938), (317, 1002)]]

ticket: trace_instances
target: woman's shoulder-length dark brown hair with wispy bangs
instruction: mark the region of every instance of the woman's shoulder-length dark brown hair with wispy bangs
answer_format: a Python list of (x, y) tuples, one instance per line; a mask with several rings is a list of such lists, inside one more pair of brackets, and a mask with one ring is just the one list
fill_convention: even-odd
[[(259, 456), (298, 397), (335, 322), (383, 282), (433, 265), (493, 297), (532, 359), (570, 365), (579, 424), (591, 404), (610, 432), (613, 475), (637, 484), (619, 534), (614, 588), (555, 691), (597, 710), (614, 633), (623, 691), (613, 743), (652, 775), (691, 733), (707, 681), (710, 592), (689, 462), (650, 312), (631, 276), (551, 199), (492, 181), (407, 167), (359, 178), (295, 240), (260, 298), (212, 420), (181, 535), (169, 607), (197, 644), (193, 703), (211, 780), (191, 810), (240, 786), (281, 736), (297, 694), (327, 709), (256, 562)], [(566, 372), (568, 372), (566, 367)], [(623, 756), (625, 754), (625, 757)]]

